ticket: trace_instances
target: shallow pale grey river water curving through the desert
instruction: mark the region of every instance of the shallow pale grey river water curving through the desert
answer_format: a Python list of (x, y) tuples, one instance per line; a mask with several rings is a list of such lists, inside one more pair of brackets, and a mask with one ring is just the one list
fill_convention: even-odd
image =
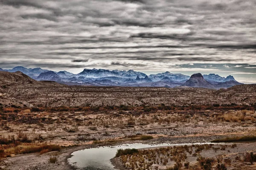
[[(197, 144), (211, 144), (211, 143), (197, 143)], [(118, 149), (126, 148), (147, 148), (147, 147), (161, 147), (161, 146), (181, 146), (191, 144), (123, 144), (113, 147), (99, 147), (78, 150), (72, 153), (72, 157), (68, 162), (77, 167), (79, 170), (115, 170), (111, 164), (110, 159), (116, 155)]]

